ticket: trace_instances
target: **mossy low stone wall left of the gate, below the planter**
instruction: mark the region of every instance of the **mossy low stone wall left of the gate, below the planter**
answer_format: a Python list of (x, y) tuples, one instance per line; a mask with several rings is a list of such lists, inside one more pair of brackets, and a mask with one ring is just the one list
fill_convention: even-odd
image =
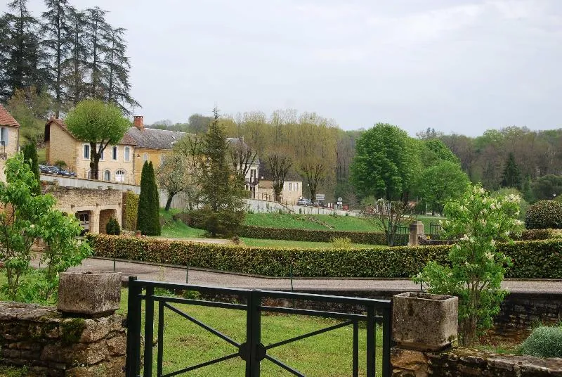
[(124, 317), (67, 318), (51, 307), (0, 302), (0, 363), (39, 376), (124, 376)]

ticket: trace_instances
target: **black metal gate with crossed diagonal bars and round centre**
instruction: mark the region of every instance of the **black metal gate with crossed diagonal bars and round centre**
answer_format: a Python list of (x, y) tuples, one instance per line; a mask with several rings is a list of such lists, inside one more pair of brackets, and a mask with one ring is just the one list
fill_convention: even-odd
[[(155, 295), (155, 288), (164, 288), (166, 290), (192, 290), (207, 295), (226, 295), (238, 296), (246, 303), (231, 303), (231, 302), (217, 302), (209, 300), (194, 300), (189, 298), (169, 297), (167, 295)], [(143, 293), (144, 291), (144, 293)], [(357, 314), (355, 312), (329, 312), (324, 310), (312, 309), (296, 309), (294, 307), (277, 307), (263, 305), (264, 299), (281, 299), (281, 300), (306, 300), (306, 302), (331, 302), (339, 305), (360, 305), (365, 308), (366, 312)], [(142, 301), (145, 301), (145, 323), (144, 323), (144, 336), (145, 345), (144, 350), (141, 346), (141, 327), (142, 317)], [(157, 328), (157, 376), (158, 377), (171, 377), (181, 373), (200, 369), (211, 364), (223, 362), (228, 359), (240, 357), (246, 363), (247, 377), (260, 376), (260, 363), (263, 360), (273, 362), (282, 369), (289, 371), (294, 376), (305, 376), (303, 373), (293, 369), (291, 366), (285, 364), (275, 357), (268, 354), (268, 350), (288, 343), (296, 342), (315, 336), (327, 331), (335, 330), (344, 326), (353, 326), (353, 371), (352, 376), (359, 375), (359, 323), (366, 323), (367, 333), (367, 358), (366, 370), (367, 377), (375, 377), (375, 359), (376, 345), (375, 339), (377, 335), (377, 324), (382, 326), (382, 370), (379, 371), (379, 376), (391, 376), (391, 363), (390, 363), (390, 350), (391, 350), (391, 302), (388, 300), (372, 300), (366, 298), (348, 298), (341, 296), (329, 295), (312, 295), (307, 293), (291, 293), (280, 292), (273, 290), (245, 290), (234, 288), (216, 288), (207, 286), (192, 286), (188, 284), (178, 283), (163, 283), (159, 281), (142, 281), (138, 280), (136, 276), (129, 277), (129, 302), (127, 312), (127, 354), (126, 354), (126, 376), (138, 377), (141, 376), (141, 352), (143, 353), (143, 374), (144, 377), (152, 376), (152, 363), (153, 363), (153, 347), (147, 343), (152, 343), (149, 340), (154, 338), (154, 323), (155, 323), (155, 302), (158, 306), (158, 328)], [(208, 307), (219, 307), (226, 309), (238, 309), (246, 312), (246, 341), (244, 343), (237, 343), (227, 335), (217, 331), (211, 326), (204, 324), (202, 321), (195, 319), (188, 313), (174, 307), (172, 304), (188, 304), (188, 305), (202, 305)], [(204, 328), (209, 333), (218, 336), (237, 347), (237, 352), (227, 354), (217, 359), (212, 359), (201, 364), (189, 366), (171, 373), (162, 373), (163, 355), (164, 355), (164, 309), (169, 309), (181, 317), (188, 319), (193, 324)], [(318, 331), (306, 333), (301, 336), (282, 340), (277, 343), (263, 345), (261, 343), (261, 313), (262, 312), (278, 312), (287, 314), (299, 314), (304, 316), (325, 317), (332, 319), (342, 320), (340, 323), (327, 328), (322, 328)], [(223, 376), (227, 376), (225, 372)]]

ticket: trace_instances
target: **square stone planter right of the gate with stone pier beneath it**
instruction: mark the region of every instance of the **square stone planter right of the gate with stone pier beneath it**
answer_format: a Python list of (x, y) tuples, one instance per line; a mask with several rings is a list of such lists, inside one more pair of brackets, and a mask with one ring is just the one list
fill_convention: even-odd
[(406, 292), (393, 297), (393, 376), (428, 376), (426, 352), (450, 348), (458, 337), (459, 298)]

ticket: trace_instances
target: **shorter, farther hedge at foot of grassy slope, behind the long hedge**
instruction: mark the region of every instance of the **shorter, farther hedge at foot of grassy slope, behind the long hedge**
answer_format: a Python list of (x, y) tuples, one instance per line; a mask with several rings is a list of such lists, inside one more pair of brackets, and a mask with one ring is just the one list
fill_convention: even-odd
[[(241, 226), (238, 236), (286, 241), (332, 242), (332, 238), (347, 237), (353, 243), (386, 245), (386, 234), (374, 231), (329, 231), (319, 229), (284, 229), (264, 226)], [(407, 235), (402, 235), (407, 238)], [(400, 236), (397, 236), (400, 237)]]

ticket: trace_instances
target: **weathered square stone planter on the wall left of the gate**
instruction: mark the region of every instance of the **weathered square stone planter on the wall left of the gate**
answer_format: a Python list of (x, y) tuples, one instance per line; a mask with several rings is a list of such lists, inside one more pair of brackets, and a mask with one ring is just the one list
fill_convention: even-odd
[(60, 274), (57, 309), (92, 317), (112, 314), (121, 300), (121, 272), (74, 271)]

